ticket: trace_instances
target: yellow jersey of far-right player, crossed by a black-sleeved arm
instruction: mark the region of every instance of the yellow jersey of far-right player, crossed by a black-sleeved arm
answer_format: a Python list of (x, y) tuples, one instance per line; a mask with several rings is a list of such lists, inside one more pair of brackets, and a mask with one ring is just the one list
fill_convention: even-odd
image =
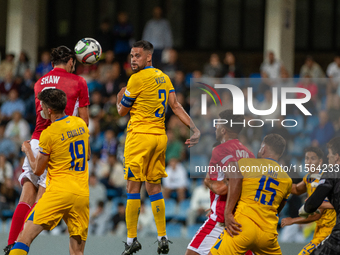
[[(310, 197), (313, 192), (315, 191), (317, 184), (319, 183), (319, 179), (313, 178), (313, 174), (308, 173), (303, 177), (303, 182), (306, 184), (307, 187), (307, 194)], [(312, 184), (315, 185), (312, 185)], [(328, 202), (328, 200), (325, 200)], [(322, 213), (320, 219), (316, 221), (318, 226), (324, 227), (334, 227), (336, 222), (336, 212), (334, 209), (325, 209)]]

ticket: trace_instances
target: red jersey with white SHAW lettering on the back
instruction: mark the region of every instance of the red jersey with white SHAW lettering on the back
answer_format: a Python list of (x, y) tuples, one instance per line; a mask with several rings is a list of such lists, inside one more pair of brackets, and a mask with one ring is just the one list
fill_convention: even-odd
[(51, 124), (50, 120), (46, 120), (40, 115), (42, 107), (38, 99), (38, 94), (45, 88), (56, 88), (66, 93), (66, 115), (75, 116), (78, 114), (79, 107), (85, 107), (90, 104), (89, 90), (85, 79), (78, 75), (68, 73), (65, 69), (54, 68), (41, 77), (34, 85), (35, 111), (37, 116), (32, 139), (39, 140), (41, 132)]

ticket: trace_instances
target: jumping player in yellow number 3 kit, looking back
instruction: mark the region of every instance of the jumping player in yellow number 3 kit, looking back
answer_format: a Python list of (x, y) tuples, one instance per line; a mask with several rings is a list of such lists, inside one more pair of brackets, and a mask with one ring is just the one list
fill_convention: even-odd
[(131, 75), (127, 87), (117, 95), (117, 109), (121, 116), (130, 112), (124, 150), (124, 170), (127, 179), (126, 226), (127, 242), (123, 255), (142, 248), (137, 240), (140, 210), (140, 188), (145, 182), (158, 233), (158, 254), (167, 254), (169, 244), (165, 230), (165, 205), (161, 192), (161, 178), (165, 172), (165, 110), (169, 104), (179, 119), (194, 133), (185, 144), (198, 143), (200, 132), (178, 103), (169, 77), (152, 66), (153, 46), (138, 41), (131, 49)]

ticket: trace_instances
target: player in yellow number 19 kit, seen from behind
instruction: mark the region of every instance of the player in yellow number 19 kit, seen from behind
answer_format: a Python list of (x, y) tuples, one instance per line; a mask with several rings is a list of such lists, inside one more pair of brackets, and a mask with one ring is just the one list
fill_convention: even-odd
[(70, 254), (84, 254), (89, 224), (89, 130), (78, 117), (65, 115), (66, 94), (47, 89), (38, 95), (45, 116), (52, 124), (42, 131), (38, 156), (28, 141), (22, 145), (33, 173), (40, 176), (48, 167), (46, 192), (29, 214), (10, 255), (26, 255), (43, 230), (51, 230), (61, 219), (68, 226)]

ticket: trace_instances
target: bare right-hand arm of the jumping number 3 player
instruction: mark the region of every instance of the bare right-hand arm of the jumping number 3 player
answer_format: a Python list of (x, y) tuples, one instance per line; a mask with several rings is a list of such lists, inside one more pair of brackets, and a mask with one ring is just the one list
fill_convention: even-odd
[(185, 144), (189, 145), (188, 147), (192, 147), (195, 144), (198, 143), (201, 132), (198, 130), (198, 128), (195, 126), (195, 123), (192, 121), (190, 116), (186, 113), (186, 111), (183, 109), (182, 105), (177, 101), (176, 94), (170, 93), (169, 94), (169, 105), (176, 114), (176, 116), (188, 127), (191, 131), (194, 132), (194, 134), (190, 137), (190, 139), (187, 139), (185, 141)]

